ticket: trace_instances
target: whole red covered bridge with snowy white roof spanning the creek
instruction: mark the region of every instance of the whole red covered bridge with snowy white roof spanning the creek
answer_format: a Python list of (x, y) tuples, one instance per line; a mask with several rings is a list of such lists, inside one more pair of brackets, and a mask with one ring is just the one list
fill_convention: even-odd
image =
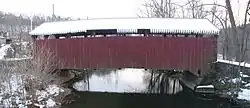
[(219, 30), (207, 19), (117, 18), (49, 22), (30, 32), (64, 69), (147, 68), (206, 73)]

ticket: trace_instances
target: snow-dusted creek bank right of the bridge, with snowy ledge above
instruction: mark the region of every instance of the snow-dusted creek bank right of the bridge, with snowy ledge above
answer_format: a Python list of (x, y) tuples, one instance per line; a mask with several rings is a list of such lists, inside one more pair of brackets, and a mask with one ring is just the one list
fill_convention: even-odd
[[(217, 74), (219, 89), (229, 96), (237, 99), (246, 100), (250, 103), (250, 73), (233, 71), (239, 65), (245, 68), (250, 68), (250, 64), (246, 62), (236, 62), (223, 59), (221, 54), (217, 55), (217, 62), (230, 64), (231, 67), (226, 71)], [(237, 69), (236, 69), (237, 70)]]

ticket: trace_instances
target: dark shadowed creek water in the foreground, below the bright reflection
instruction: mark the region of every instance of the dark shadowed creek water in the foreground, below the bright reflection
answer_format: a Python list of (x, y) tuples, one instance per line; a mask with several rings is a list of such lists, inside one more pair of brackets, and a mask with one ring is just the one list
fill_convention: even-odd
[(66, 108), (216, 108), (216, 101), (198, 100), (192, 93), (176, 95), (79, 92)]

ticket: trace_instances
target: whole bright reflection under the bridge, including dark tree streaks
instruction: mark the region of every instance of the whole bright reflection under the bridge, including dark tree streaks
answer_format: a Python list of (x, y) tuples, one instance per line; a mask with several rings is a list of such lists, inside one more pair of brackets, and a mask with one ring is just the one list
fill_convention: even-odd
[(82, 80), (75, 83), (74, 87), (79, 91), (168, 94), (175, 94), (183, 89), (178, 79), (164, 77), (164, 74), (155, 70), (121, 69), (91, 73), (89, 85)]

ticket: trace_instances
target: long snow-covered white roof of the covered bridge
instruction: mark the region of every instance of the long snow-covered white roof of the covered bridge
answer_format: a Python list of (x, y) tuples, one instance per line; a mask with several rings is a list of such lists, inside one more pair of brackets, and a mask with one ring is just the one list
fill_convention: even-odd
[(67, 34), (105, 29), (116, 29), (117, 33), (137, 33), (138, 29), (150, 29), (151, 33), (219, 34), (219, 29), (207, 19), (106, 18), (48, 22), (35, 28), (30, 35)]

